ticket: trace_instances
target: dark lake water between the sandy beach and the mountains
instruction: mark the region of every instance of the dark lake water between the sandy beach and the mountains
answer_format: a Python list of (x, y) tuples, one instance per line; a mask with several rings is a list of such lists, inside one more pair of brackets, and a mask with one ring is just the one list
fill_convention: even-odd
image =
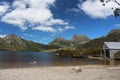
[(119, 65), (120, 61), (88, 58), (57, 57), (47, 52), (0, 51), (0, 68), (76, 66), (76, 65)]

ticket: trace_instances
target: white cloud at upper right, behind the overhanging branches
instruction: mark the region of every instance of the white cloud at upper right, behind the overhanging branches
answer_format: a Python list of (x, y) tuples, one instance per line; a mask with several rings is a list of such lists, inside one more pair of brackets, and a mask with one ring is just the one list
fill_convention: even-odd
[(120, 7), (114, 2), (109, 2), (106, 6), (102, 6), (99, 0), (86, 0), (78, 7), (92, 18), (106, 18), (113, 15), (112, 7)]

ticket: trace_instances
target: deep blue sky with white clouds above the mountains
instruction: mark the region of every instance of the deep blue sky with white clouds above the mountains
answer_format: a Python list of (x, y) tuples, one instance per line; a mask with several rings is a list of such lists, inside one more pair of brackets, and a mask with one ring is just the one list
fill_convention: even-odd
[(120, 6), (102, 6), (99, 0), (0, 0), (0, 37), (16, 34), (43, 44), (74, 34), (98, 38), (120, 28), (112, 7)]

